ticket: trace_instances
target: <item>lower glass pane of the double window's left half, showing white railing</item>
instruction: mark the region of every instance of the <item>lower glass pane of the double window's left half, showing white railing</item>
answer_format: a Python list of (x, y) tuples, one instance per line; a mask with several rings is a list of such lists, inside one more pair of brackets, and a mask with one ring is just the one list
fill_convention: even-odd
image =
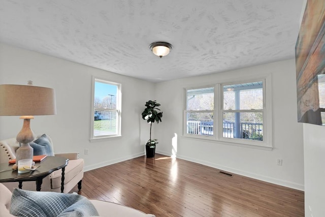
[(213, 113), (212, 112), (188, 112), (187, 134), (213, 135)]

